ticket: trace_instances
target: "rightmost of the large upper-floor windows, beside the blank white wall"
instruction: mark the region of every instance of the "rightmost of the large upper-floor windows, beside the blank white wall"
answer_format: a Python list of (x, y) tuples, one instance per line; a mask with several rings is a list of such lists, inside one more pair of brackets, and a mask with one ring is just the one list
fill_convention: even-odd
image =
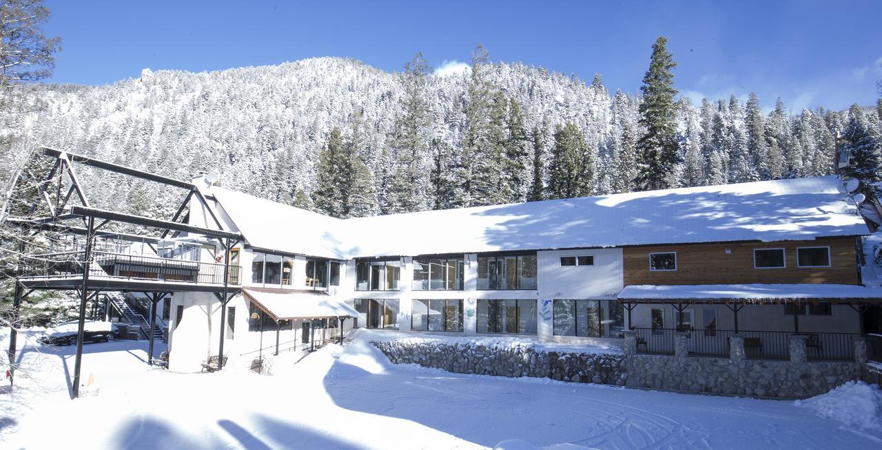
[(478, 256), (478, 289), (536, 289), (536, 254)]

